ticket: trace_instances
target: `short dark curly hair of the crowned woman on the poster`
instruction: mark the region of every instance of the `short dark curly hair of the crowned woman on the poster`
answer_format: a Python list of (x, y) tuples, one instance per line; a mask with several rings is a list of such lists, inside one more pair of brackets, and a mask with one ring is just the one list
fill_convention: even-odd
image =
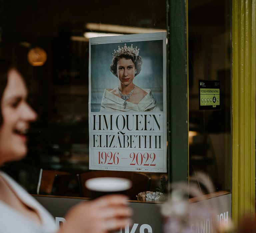
[(112, 59), (112, 63), (110, 65), (110, 71), (113, 73), (113, 75), (117, 76), (117, 62), (119, 59), (121, 58), (126, 58), (126, 59), (131, 59), (132, 62), (135, 65), (135, 70), (137, 71), (135, 76), (138, 75), (141, 71), (141, 65), (142, 65), (142, 59), (141, 57), (138, 55), (133, 55), (132, 53), (129, 52), (124, 52), (121, 53), (119, 56), (113, 57)]

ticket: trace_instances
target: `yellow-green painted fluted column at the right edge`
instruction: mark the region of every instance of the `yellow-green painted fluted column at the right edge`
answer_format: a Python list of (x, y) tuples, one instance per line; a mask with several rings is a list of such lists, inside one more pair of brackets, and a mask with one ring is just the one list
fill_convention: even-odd
[(255, 215), (256, 0), (232, 1), (232, 218)]

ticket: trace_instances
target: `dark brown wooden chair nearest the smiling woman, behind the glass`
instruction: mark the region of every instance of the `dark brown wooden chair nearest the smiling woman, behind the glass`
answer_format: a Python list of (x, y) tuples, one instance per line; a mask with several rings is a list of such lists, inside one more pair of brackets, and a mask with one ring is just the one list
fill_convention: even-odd
[(40, 169), (37, 194), (65, 196), (71, 173)]

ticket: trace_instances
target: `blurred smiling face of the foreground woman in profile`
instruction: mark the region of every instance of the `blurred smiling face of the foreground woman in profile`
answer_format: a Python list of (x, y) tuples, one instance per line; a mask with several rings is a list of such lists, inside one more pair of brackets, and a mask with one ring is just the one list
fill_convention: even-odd
[(27, 153), (26, 131), (36, 113), (26, 102), (27, 89), (21, 75), (12, 69), (1, 100), (0, 164), (22, 158)]

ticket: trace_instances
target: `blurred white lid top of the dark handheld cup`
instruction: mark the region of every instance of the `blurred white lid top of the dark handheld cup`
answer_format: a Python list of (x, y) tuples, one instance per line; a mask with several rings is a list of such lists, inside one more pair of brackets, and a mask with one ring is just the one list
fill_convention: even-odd
[(132, 182), (125, 178), (97, 177), (88, 179), (85, 186), (97, 192), (119, 192), (131, 188)]

